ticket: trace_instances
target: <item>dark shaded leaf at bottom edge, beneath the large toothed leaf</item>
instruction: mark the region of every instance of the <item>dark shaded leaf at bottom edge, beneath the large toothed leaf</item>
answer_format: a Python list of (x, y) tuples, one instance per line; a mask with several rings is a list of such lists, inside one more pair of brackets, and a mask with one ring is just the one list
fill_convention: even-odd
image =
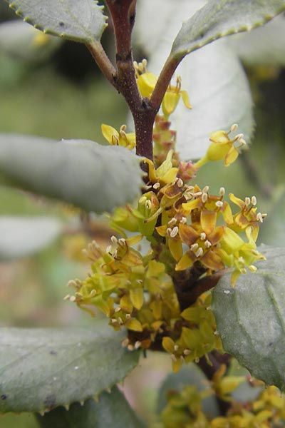
[(89, 399), (83, 406), (74, 403), (68, 411), (58, 407), (37, 419), (41, 428), (144, 427), (117, 387), (110, 394), (103, 392), (98, 402)]

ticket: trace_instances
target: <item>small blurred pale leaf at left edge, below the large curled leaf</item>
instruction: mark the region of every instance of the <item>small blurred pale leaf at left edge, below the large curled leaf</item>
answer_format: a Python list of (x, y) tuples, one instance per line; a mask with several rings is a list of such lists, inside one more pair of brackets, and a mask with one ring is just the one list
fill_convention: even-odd
[(52, 217), (0, 216), (0, 260), (14, 260), (36, 253), (61, 233)]

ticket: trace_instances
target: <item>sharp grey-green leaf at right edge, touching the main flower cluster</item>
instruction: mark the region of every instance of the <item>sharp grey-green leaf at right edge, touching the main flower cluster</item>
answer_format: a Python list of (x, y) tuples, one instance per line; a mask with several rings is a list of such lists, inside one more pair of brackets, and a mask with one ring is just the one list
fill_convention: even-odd
[(285, 391), (285, 248), (262, 245), (256, 273), (229, 275), (213, 290), (212, 309), (224, 350), (254, 377)]

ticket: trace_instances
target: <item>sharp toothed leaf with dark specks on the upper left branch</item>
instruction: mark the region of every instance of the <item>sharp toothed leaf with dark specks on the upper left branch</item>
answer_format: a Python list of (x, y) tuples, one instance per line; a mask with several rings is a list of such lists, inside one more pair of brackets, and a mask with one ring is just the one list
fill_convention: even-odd
[(28, 24), (47, 34), (81, 43), (98, 42), (106, 27), (95, 0), (6, 0)]

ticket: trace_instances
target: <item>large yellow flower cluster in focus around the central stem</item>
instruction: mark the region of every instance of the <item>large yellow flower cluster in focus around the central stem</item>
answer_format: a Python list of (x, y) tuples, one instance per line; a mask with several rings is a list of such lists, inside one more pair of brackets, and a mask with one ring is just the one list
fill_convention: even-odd
[[(147, 73), (145, 61), (135, 64), (135, 69), (142, 96), (150, 98), (157, 79)], [(254, 262), (264, 256), (256, 241), (265, 217), (257, 210), (255, 196), (241, 200), (230, 193), (225, 200), (224, 188), (213, 195), (209, 186), (199, 188), (191, 183), (208, 161), (232, 163), (244, 139), (242, 134), (230, 137), (236, 125), (229, 132), (217, 131), (210, 136), (204, 158), (197, 163), (181, 162), (175, 152), (176, 134), (168, 121), (180, 98), (191, 107), (178, 79), (165, 93), (163, 116), (157, 115), (155, 120), (155, 161), (145, 159), (145, 189), (137, 203), (116, 208), (110, 216), (110, 226), (122, 238), (113, 236), (105, 250), (95, 242), (88, 245), (85, 254), (92, 272), (86, 280), (71, 281), (76, 292), (67, 296), (91, 314), (98, 307), (115, 330), (126, 327), (128, 337), (123, 345), (129, 350), (141, 347), (169, 352), (175, 371), (183, 362), (197, 362), (212, 350), (222, 349), (210, 310), (211, 295), (204, 293), (215, 283), (208, 281), (185, 304), (179, 297), (181, 278), (185, 299), (199, 287), (199, 281), (214, 273), (231, 268), (234, 285), (247, 269), (257, 270)], [(110, 144), (131, 150), (135, 134), (125, 133), (125, 129), (102, 126)], [(138, 245), (145, 243), (148, 251), (142, 255)]]

